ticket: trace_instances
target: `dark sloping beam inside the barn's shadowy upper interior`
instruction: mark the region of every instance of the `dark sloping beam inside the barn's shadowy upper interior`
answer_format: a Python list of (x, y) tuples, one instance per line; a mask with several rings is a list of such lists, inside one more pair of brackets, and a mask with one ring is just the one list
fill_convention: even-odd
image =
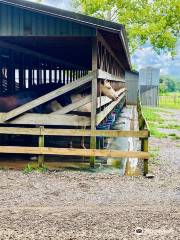
[(60, 60), (58, 58), (50, 57), (46, 54), (38, 53), (38, 52), (30, 50), (28, 48), (20, 47), (19, 45), (12, 44), (12, 43), (7, 43), (7, 42), (4, 42), (2, 40), (0, 40), (0, 46), (1, 46), (1, 48), (9, 48), (9, 49), (16, 50), (17, 52), (20, 52), (20, 53), (23, 53), (23, 54), (33, 55), (35, 57), (38, 57), (38, 58), (41, 58), (41, 59), (44, 59), (44, 60), (47, 60), (47, 61), (50, 61), (50, 62), (57, 63), (58, 65), (65, 65), (68, 68), (80, 68), (80, 69), (82, 69), (82, 66), (72, 64), (70, 62)]

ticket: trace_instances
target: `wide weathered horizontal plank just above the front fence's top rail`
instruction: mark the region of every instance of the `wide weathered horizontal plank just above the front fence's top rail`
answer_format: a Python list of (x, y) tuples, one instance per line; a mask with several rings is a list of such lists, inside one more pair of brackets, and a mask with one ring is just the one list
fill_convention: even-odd
[[(7, 124), (7, 122), (4, 122), (4, 113), (0, 113), (0, 124)], [(16, 119), (9, 121), (8, 124), (86, 127), (90, 126), (90, 118), (72, 114), (50, 115), (26, 113), (18, 116)]]

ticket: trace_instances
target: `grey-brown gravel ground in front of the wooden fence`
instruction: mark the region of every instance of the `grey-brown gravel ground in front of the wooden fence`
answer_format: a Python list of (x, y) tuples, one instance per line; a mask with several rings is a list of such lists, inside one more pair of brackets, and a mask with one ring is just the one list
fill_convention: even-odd
[(180, 239), (179, 144), (150, 139), (153, 179), (0, 171), (0, 239)]

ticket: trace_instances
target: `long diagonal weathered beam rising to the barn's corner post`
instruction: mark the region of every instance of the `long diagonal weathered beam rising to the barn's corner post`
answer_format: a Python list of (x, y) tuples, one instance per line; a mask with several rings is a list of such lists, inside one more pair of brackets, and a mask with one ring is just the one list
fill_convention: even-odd
[(56, 90), (54, 90), (54, 91), (52, 91), (52, 92), (50, 92), (50, 93), (48, 93), (48, 94), (46, 94), (42, 97), (39, 97), (39, 98), (37, 98), (37, 99), (35, 99), (31, 102), (28, 102), (28, 103), (26, 103), (26, 104), (24, 104), (24, 105), (22, 105), (22, 106), (20, 106), (16, 109), (12, 110), (12, 111), (6, 113), (4, 115), (4, 121), (8, 121), (8, 120), (10, 120), (10, 119), (22, 114), (22, 113), (25, 113), (25, 112), (43, 104), (43, 103), (46, 103), (46, 102), (48, 102), (48, 101), (50, 101), (54, 98), (57, 98), (57, 97), (65, 94), (65, 93), (77, 88), (77, 87), (80, 87), (80, 86), (92, 81), (92, 79), (94, 79), (95, 76), (96, 76), (96, 72), (92, 72), (92, 73), (76, 80), (75, 82), (69, 83), (69, 84), (67, 84), (67, 85), (65, 85), (61, 88), (58, 88), (58, 89), (56, 89)]

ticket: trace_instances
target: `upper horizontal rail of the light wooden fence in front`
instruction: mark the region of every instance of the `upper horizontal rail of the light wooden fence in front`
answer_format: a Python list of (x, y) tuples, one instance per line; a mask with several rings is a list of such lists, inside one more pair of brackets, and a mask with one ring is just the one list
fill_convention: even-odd
[(0, 134), (18, 135), (45, 135), (45, 136), (89, 136), (89, 137), (136, 137), (147, 138), (149, 132), (144, 131), (121, 131), (121, 130), (84, 130), (84, 129), (50, 129), (50, 128), (17, 128), (0, 127)]

